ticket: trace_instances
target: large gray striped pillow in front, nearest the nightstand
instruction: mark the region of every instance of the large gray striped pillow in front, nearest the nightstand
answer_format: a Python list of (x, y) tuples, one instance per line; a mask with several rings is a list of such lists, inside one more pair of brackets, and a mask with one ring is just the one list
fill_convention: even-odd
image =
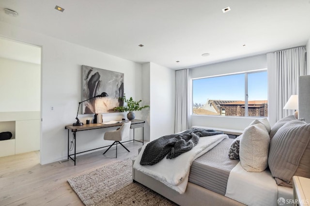
[(292, 187), (292, 177), (310, 177), (310, 124), (292, 120), (270, 142), (268, 164), (278, 185)]

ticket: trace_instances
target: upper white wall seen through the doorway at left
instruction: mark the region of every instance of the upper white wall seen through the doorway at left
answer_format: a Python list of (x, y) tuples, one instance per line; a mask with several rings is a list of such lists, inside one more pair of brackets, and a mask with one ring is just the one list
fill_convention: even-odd
[(4, 58), (0, 65), (0, 112), (40, 111), (41, 66)]

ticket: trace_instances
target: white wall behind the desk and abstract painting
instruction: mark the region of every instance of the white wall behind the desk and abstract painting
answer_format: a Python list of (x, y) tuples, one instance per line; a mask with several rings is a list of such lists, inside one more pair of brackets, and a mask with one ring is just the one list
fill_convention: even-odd
[[(42, 164), (67, 158), (67, 131), (64, 126), (75, 122), (78, 102), (81, 101), (81, 65), (124, 73), (126, 95), (134, 99), (142, 96), (142, 66), (139, 63), (3, 22), (0, 22), (0, 36), (42, 46)], [(50, 110), (51, 106), (54, 107), (53, 111)], [(79, 117), (85, 122), (90, 116)], [(106, 120), (123, 117), (124, 113), (104, 114)], [(140, 114), (136, 118), (141, 118)], [(78, 132), (77, 152), (111, 144), (110, 141), (104, 142), (103, 133), (104, 130)]]

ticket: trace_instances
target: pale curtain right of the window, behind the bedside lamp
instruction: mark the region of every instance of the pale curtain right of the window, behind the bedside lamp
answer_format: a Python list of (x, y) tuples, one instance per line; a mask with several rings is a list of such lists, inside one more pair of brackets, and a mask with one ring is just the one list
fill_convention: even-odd
[[(292, 115), (283, 109), (293, 94), (298, 94), (298, 76), (306, 75), (306, 48), (304, 46), (274, 52), (276, 67), (276, 121)], [(269, 69), (269, 67), (268, 67)]]

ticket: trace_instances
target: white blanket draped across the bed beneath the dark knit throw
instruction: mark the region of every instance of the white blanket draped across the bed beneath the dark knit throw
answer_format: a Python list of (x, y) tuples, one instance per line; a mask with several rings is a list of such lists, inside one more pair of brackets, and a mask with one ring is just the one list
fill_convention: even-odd
[(199, 142), (195, 147), (176, 158), (164, 158), (155, 165), (141, 166), (140, 160), (144, 148), (147, 145), (145, 144), (141, 148), (133, 167), (134, 169), (159, 180), (180, 194), (183, 194), (186, 190), (189, 169), (192, 162), (215, 147), (224, 138), (228, 138), (228, 136), (226, 134), (217, 134), (213, 136), (200, 137)]

